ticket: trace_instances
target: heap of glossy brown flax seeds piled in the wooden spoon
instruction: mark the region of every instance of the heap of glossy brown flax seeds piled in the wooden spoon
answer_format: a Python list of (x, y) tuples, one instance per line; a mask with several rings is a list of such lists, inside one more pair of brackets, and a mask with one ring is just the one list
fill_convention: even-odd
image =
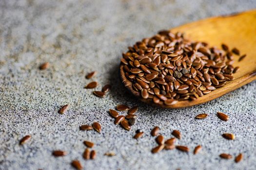
[(239, 68), (232, 66), (233, 53), (238, 53), (225, 44), (222, 49), (190, 41), (181, 33), (160, 31), (129, 47), (121, 65), (143, 99), (172, 105), (196, 100), (234, 80), (232, 74)]

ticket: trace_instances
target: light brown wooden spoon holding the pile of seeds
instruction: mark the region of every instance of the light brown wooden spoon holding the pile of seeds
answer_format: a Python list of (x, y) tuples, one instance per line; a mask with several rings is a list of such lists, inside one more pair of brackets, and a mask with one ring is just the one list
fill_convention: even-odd
[(174, 105), (159, 105), (153, 103), (151, 99), (142, 99), (140, 93), (133, 89), (132, 83), (125, 77), (123, 66), (120, 65), (122, 83), (141, 101), (164, 108), (188, 107), (209, 102), (256, 80), (256, 10), (230, 16), (211, 17), (181, 25), (171, 31), (185, 33), (185, 37), (190, 40), (207, 42), (210, 47), (220, 48), (221, 44), (225, 43), (229, 48), (236, 47), (240, 54), (247, 54), (247, 56), (240, 62), (238, 62), (239, 57), (235, 57), (233, 66), (240, 68), (237, 73), (233, 74), (235, 80), (227, 81), (223, 87), (217, 88), (195, 101), (179, 101)]

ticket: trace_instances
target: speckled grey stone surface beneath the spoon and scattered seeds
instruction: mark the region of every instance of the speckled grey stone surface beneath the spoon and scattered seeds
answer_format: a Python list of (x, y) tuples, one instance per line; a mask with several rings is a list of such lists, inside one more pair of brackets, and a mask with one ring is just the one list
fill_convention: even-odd
[[(253, 8), (255, 0), (0, 0), (0, 170), (69, 170), (73, 159), (86, 170), (255, 170), (256, 82), (212, 102), (167, 110), (133, 99), (118, 76), (121, 53), (143, 37)], [(46, 61), (49, 69), (39, 70)], [(83, 88), (92, 70), (98, 71), (92, 79), (98, 90), (112, 85), (104, 99)], [(59, 115), (66, 103), (69, 110)], [(118, 103), (139, 106), (129, 132), (108, 114)], [(218, 119), (217, 111), (230, 120)], [(209, 117), (197, 120), (199, 113)], [(102, 125), (101, 134), (79, 131), (94, 121)], [(179, 130), (177, 144), (191, 151), (152, 154), (156, 142), (149, 134), (156, 125), (165, 138)], [(132, 138), (137, 129), (145, 132), (138, 141)], [(225, 132), (236, 140), (224, 139)], [(32, 139), (20, 146), (27, 134)], [(83, 140), (95, 142), (95, 160), (82, 159)], [(203, 149), (193, 155), (198, 144)], [(56, 149), (68, 154), (55, 158)], [(116, 156), (104, 156), (110, 151)], [(244, 160), (221, 160), (220, 153), (243, 153)]]

